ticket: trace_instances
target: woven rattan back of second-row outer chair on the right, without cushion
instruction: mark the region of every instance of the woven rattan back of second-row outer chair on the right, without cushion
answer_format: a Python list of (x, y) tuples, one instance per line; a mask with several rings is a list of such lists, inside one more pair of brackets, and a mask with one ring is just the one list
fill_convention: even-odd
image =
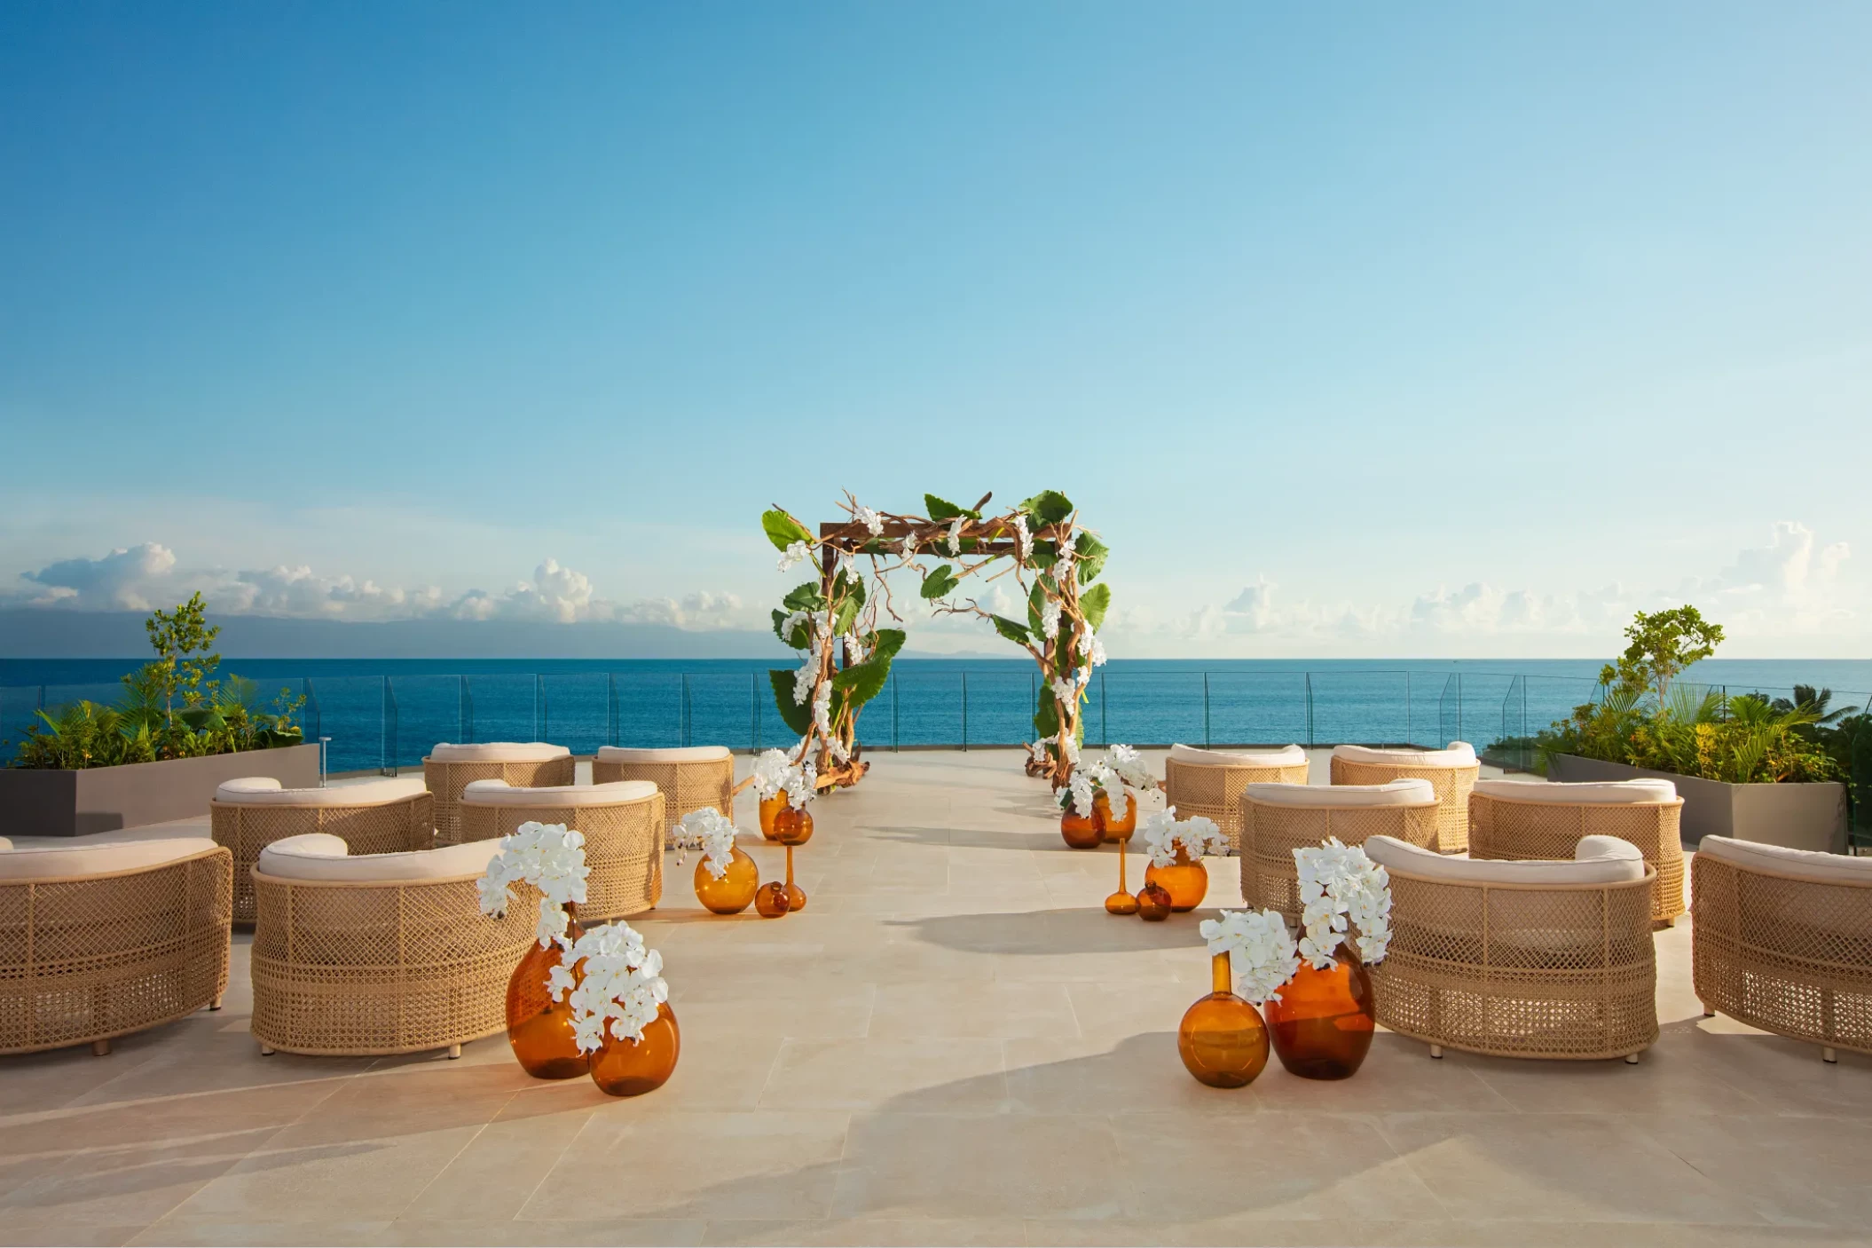
[(1584, 836), (1631, 841), (1657, 868), (1651, 922), (1683, 914), (1683, 798), (1670, 802), (1528, 802), (1470, 795), (1470, 856), (1509, 862), (1571, 858)]

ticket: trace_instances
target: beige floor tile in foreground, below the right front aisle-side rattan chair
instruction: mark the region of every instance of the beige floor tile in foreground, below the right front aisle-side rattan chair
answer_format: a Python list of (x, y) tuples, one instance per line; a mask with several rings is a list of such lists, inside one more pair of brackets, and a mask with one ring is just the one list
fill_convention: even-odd
[(1389, 1113), (1385, 1139), (1453, 1218), (1760, 1224), (1750, 1201), (1587, 1113)]

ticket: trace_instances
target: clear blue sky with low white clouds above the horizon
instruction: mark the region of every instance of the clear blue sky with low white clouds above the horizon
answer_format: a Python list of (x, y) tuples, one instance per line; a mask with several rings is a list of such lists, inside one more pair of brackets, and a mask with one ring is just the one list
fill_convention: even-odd
[(736, 628), (769, 502), (1052, 485), (1121, 654), (1602, 654), (1692, 600), (1865, 656), (1866, 47), (1857, 4), (9, 4), (0, 594)]

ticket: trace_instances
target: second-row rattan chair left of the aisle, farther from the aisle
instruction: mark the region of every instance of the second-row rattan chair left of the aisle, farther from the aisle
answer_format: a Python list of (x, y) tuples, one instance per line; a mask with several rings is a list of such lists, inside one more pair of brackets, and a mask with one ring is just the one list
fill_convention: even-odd
[(230, 780), (215, 789), (208, 819), (215, 843), (234, 851), (238, 924), (253, 922), (253, 864), (273, 841), (328, 832), (359, 854), (393, 854), (436, 843), (434, 802), (414, 776), (329, 789), (281, 789), (277, 780), (266, 776)]

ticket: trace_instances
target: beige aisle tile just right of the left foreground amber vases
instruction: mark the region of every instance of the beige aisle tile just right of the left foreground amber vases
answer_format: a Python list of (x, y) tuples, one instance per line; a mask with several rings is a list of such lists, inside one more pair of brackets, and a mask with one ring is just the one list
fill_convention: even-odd
[(992, 1113), (1007, 1104), (1000, 1040), (788, 1040), (762, 1109)]

